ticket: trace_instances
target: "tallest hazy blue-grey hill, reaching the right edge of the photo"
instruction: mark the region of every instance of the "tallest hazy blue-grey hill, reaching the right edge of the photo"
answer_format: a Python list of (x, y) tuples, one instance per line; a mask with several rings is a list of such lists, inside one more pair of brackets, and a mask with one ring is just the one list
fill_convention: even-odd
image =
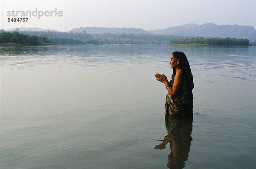
[(172, 34), (177, 36), (244, 38), (256, 42), (256, 30), (253, 26), (218, 26), (213, 23), (205, 23), (203, 25), (186, 24), (148, 32), (152, 34)]

